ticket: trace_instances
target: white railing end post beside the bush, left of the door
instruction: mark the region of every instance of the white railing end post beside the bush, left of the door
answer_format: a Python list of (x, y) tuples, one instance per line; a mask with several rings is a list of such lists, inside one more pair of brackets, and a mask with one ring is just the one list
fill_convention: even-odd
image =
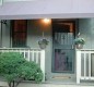
[(43, 71), (43, 82), (45, 82), (45, 50), (40, 51), (40, 69)]

